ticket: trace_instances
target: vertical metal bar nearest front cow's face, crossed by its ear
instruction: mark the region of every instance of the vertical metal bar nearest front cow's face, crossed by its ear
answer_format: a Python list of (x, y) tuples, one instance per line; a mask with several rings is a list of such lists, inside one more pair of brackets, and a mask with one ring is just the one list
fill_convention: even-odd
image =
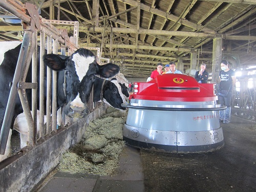
[[(53, 53), (58, 54), (58, 40), (53, 42)], [(57, 132), (57, 71), (52, 71), (52, 131)]]

